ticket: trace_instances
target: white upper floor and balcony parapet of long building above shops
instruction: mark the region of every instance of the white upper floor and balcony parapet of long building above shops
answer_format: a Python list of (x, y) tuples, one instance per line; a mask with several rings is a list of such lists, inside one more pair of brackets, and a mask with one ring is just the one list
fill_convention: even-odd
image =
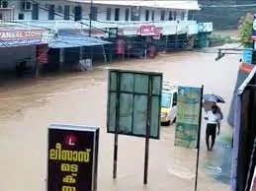
[[(196, 21), (189, 21), (189, 11), (200, 9), (197, 0), (2, 0), (0, 2), (2, 21), (14, 20), (54, 30), (88, 29), (90, 14), (92, 29), (119, 28), (124, 35), (135, 35), (140, 27), (145, 25), (160, 28), (163, 35), (185, 32), (195, 34), (199, 29)], [(6, 11), (10, 14), (6, 15)], [(213, 28), (210, 26), (208, 31), (213, 31)]]

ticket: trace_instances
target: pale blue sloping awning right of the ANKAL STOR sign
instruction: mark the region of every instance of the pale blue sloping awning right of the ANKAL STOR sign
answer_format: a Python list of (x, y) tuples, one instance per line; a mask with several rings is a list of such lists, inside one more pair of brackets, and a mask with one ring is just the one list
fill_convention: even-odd
[(50, 48), (68, 48), (80, 46), (96, 46), (109, 44), (111, 42), (99, 38), (88, 37), (82, 34), (60, 34), (58, 37), (49, 42)]

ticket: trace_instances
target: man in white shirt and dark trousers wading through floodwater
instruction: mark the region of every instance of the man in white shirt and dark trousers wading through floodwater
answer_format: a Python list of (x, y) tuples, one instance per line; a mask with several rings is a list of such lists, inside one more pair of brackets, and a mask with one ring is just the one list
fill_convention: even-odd
[[(207, 132), (206, 132), (207, 147), (208, 147), (208, 151), (212, 151), (213, 145), (215, 143), (215, 136), (216, 136), (216, 134), (219, 135), (220, 121), (221, 121), (221, 116), (217, 112), (216, 105), (213, 105), (212, 110), (207, 112), (207, 116), (205, 119), (208, 121)], [(217, 133), (216, 133), (216, 127), (217, 127)], [(210, 148), (210, 143), (209, 143), (210, 136), (212, 136), (211, 148)]]

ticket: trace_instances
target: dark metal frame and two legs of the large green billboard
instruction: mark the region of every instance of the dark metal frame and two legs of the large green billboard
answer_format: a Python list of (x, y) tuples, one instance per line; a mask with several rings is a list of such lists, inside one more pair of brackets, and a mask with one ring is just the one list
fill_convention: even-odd
[[(111, 90), (112, 86), (112, 81), (111, 81), (111, 74), (112, 73), (117, 73), (117, 82), (116, 82), (116, 90), (113, 91)], [(121, 74), (133, 74), (133, 75), (145, 75), (148, 77), (148, 82), (147, 82), (147, 94), (141, 94), (141, 93), (136, 93), (134, 92), (134, 76), (133, 76), (133, 92), (128, 92), (128, 91), (121, 91)], [(159, 82), (159, 93), (158, 95), (152, 94), (153, 92), (153, 77), (157, 76), (160, 78)], [(147, 184), (147, 176), (148, 176), (148, 156), (149, 156), (149, 139), (159, 139), (160, 138), (160, 115), (161, 115), (161, 93), (162, 93), (162, 82), (163, 82), (163, 74), (162, 73), (156, 73), (156, 72), (140, 72), (140, 71), (129, 71), (129, 70), (118, 70), (118, 69), (110, 69), (109, 70), (109, 81), (108, 81), (108, 105), (107, 105), (107, 131), (108, 133), (115, 133), (115, 143), (114, 143), (114, 162), (113, 162), (113, 178), (117, 178), (117, 167), (118, 167), (118, 138), (119, 134), (121, 135), (128, 135), (128, 136), (135, 136), (135, 137), (144, 137), (145, 138), (145, 158), (144, 158), (144, 179), (143, 183)], [(115, 131), (110, 130), (110, 118), (111, 118), (111, 113), (110, 113), (110, 106), (111, 106), (111, 93), (116, 94), (116, 110), (115, 110)], [(132, 134), (132, 125), (131, 123), (131, 131), (130, 133), (123, 133), (120, 131), (120, 96), (121, 94), (128, 94), (132, 95), (132, 118), (131, 121), (133, 121), (133, 113), (134, 113), (134, 96), (147, 96), (147, 106), (145, 109), (146, 112), (146, 125), (145, 125), (145, 135), (136, 135)], [(157, 135), (156, 136), (150, 136), (150, 129), (151, 129), (151, 116), (152, 116), (152, 97), (157, 96), (158, 97), (158, 110), (157, 110)]]

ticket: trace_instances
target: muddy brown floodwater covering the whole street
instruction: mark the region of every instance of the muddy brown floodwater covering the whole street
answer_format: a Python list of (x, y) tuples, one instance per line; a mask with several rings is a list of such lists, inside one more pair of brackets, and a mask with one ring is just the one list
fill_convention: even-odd
[[(50, 123), (101, 127), (99, 191), (192, 191), (196, 150), (174, 147), (174, 126), (162, 127), (161, 139), (150, 141), (149, 179), (143, 186), (144, 140), (120, 136), (118, 179), (112, 179), (114, 135), (106, 133), (107, 69), (158, 71), (178, 85), (205, 85), (205, 93), (223, 96), (227, 115), (239, 56), (179, 52), (155, 59), (98, 66), (92, 72), (47, 76), (35, 80), (0, 81), (0, 182), (3, 191), (44, 191), (46, 136)], [(202, 126), (198, 190), (226, 191), (231, 128), (225, 119), (212, 153), (206, 151)]]

